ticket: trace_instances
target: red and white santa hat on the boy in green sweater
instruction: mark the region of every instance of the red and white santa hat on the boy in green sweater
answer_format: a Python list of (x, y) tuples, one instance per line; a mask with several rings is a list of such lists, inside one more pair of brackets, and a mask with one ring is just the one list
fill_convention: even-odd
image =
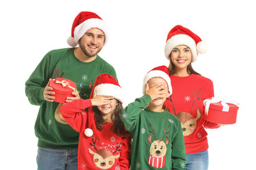
[(143, 80), (143, 85), (142, 85), (142, 93), (145, 94), (146, 83), (154, 77), (160, 77), (160, 78), (164, 79), (164, 81), (166, 81), (166, 84), (168, 85), (168, 89), (169, 89), (169, 92), (171, 95), (172, 89), (171, 89), (171, 79), (169, 77), (169, 69), (164, 65), (155, 67), (154, 69), (151, 69), (145, 75), (144, 80)]

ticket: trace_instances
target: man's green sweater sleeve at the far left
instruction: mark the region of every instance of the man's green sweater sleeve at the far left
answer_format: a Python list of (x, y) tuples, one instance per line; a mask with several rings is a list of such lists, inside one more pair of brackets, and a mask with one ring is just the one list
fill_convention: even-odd
[(48, 52), (26, 81), (25, 94), (31, 104), (40, 106), (45, 102), (43, 90), (50, 79), (50, 73), (53, 72), (55, 66), (53, 63), (55, 62)]

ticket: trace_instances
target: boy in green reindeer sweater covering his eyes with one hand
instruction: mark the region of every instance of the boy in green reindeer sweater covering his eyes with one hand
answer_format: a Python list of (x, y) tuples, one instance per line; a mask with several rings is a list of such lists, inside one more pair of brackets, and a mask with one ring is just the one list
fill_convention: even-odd
[(132, 133), (131, 169), (184, 169), (181, 122), (163, 109), (166, 97), (171, 95), (166, 66), (146, 74), (143, 94), (121, 114), (125, 128)]

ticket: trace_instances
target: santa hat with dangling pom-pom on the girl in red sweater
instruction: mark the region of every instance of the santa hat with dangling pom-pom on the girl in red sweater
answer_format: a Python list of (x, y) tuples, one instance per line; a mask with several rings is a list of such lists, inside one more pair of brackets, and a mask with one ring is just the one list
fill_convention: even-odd
[[(118, 84), (117, 80), (114, 79), (110, 74), (100, 74), (97, 77), (95, 84), (92, 88), (92, 92), (90, 94), (90, 98), (95, 94), (97, 96), (112, 96), (116, 98), (121, 103), (124, 103), (124, 93), (121, 89), (121, 86)], [(92, 119), (94, 118), (94, 112), (92, 111), (92, 107), (88, 109), (88, 127), (85, 130), (85, 135), (87, 137), (91, 137), (93, 135), (92, 132)]]

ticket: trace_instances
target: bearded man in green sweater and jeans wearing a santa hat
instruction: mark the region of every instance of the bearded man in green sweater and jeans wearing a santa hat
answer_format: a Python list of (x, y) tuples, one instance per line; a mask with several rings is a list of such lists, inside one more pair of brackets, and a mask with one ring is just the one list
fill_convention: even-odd
[(107, 40), (107, 26), (100, 16), (79, 13), (68, 38), (72, 48), (48, 52), (26, 81), (28, 101), (40, 106), (35, 124), (38, 169), (78, 169), (79, 134), (60, 115), (62, 104), (53, 101), (54, 92), (49, 83), (58, 77), (74, 81), (77, 85), (74, 97), (65, 101), (70, 102), (89, 98), (98, 75), (108, 73), (117, 78), (114, 68), (97, 55)]

